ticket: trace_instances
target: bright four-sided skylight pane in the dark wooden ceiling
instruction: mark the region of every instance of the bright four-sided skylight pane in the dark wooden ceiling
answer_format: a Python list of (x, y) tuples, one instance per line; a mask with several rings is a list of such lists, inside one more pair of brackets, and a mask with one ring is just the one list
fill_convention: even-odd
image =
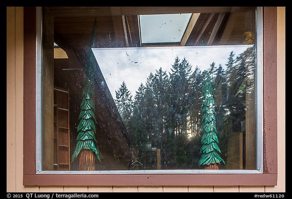
[(180, 43), (192, 14), (140, 15), (141, 44)]

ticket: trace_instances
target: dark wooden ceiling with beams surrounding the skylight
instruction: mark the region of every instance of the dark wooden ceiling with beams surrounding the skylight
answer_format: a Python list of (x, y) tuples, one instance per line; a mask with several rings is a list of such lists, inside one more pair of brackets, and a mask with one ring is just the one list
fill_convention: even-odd
[[(244, 32), (250, 28), (254, 30), (254, 27), (248, 27), (251, 20), (246, 17), (251, 10), (249, 7), (50, 7), (48, 10), (54, 15), (55, 35), (73, 49), (87, 45), (94, 18), (97, 19), (95, 48), (142, 47), (144, 42), (141, 41), (141, 35), (150, 34), (151, 31), (143, 29), (139, 15), (141, 19), (154, 17), (157, 13), (168, 14), (166, 17), (172, 16), (169, 14), (189, 13), (190, 20), (183, 29), (177, 30), (182, 34), (180, 39), (163, 42), (164, 46), (242, 44)], [(157, 33), (160, 36), (174, 34), (169, 27), (160, 30)], [(161, 45), (155, 42), (157, 39), (153, 41), (145, 43)]]

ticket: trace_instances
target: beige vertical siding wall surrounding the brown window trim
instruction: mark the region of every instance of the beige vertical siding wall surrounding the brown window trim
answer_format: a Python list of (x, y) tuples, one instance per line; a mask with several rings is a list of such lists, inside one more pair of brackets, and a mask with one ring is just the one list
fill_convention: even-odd
[(7, 192), (285, 192), (285, 8), (278, 8), (277, 186), (33, 186), (23, 177), (23, 8), (7, 7)]

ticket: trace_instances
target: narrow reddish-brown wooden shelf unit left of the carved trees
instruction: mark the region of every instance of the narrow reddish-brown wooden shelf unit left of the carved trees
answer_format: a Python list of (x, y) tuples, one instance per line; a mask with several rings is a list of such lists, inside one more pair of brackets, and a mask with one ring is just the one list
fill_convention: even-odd
[(70, 170), (69, 92), (54, 88), (54, 170)]

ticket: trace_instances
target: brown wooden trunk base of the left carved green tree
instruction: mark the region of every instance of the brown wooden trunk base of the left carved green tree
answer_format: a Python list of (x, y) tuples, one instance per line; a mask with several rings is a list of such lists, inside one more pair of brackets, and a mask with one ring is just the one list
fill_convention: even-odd
[(95, 154), (91, 150), (83, 149), (78, 155), (79, 171), (95, 171)]

